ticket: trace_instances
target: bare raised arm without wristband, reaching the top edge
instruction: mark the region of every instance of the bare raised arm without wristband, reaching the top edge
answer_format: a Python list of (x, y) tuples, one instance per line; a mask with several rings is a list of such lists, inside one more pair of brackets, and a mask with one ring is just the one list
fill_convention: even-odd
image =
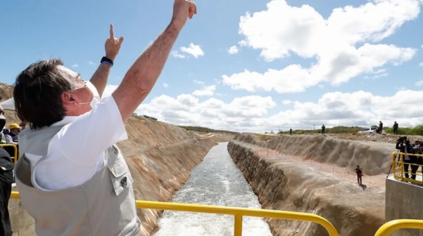
[(172, 20), (168, 27), (135, 60), (118, 89), (113, 92), (113, 98), (118, 104), (124, 122), (153, 89), (179, 32), (187, 22), (187, 18), (192, 18), (194, 14), (196, 14), (194, 1), (175, 0)]

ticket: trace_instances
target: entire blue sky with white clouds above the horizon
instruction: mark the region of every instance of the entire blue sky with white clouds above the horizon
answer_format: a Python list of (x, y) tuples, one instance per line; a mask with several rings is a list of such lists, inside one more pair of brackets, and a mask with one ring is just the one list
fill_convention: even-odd
[[(60, 57), (89, 79), (124, 36), (107, 93), (168, 25), (173, 1), (1, 1), (0, 81)], [(422, 1), (197, 1), (137, 109), (232, 131), (423, 124)]]

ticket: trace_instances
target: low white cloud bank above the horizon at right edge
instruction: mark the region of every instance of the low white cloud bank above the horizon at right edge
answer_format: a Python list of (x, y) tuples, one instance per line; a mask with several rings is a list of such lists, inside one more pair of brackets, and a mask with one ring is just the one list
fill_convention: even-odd
[[(423, 91), (398, 91), (393, 96), (374, 96), (372, 93), (326, 93), (317, 103), (294, 102), (292, 110), (270, 117), (270, 123), (278, 121), (282, 126), (308, 127), (312, 124), (326, 126), (370, 126), (379, 120), (385, 126), (394, 121), (400, 126), (422, 124), (423, 117), (415, 106), (423, 99)], [(407, 107), (406, 109), (404, 107)]]

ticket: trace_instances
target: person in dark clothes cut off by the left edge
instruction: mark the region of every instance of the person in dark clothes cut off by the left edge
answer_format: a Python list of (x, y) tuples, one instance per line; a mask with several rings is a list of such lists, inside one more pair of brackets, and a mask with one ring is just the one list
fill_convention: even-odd
[(11, 236), (12, 226), (8, 211), (13, 183), (13, 167), (11, 156), (0, 148), (0, 235)]

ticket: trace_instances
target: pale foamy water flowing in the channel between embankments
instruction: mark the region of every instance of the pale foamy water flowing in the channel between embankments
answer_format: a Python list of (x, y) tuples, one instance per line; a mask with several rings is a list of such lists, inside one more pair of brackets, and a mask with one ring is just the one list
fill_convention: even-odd
[[(232, 162), (227, 143), (212, 147), (172, 202), (261, 209), (257, 196)], [(234, 216), (165, 211), (156, 236), (234, 235)], [(243, 236), (272, 235), (262, 218), (243, 217)]]

